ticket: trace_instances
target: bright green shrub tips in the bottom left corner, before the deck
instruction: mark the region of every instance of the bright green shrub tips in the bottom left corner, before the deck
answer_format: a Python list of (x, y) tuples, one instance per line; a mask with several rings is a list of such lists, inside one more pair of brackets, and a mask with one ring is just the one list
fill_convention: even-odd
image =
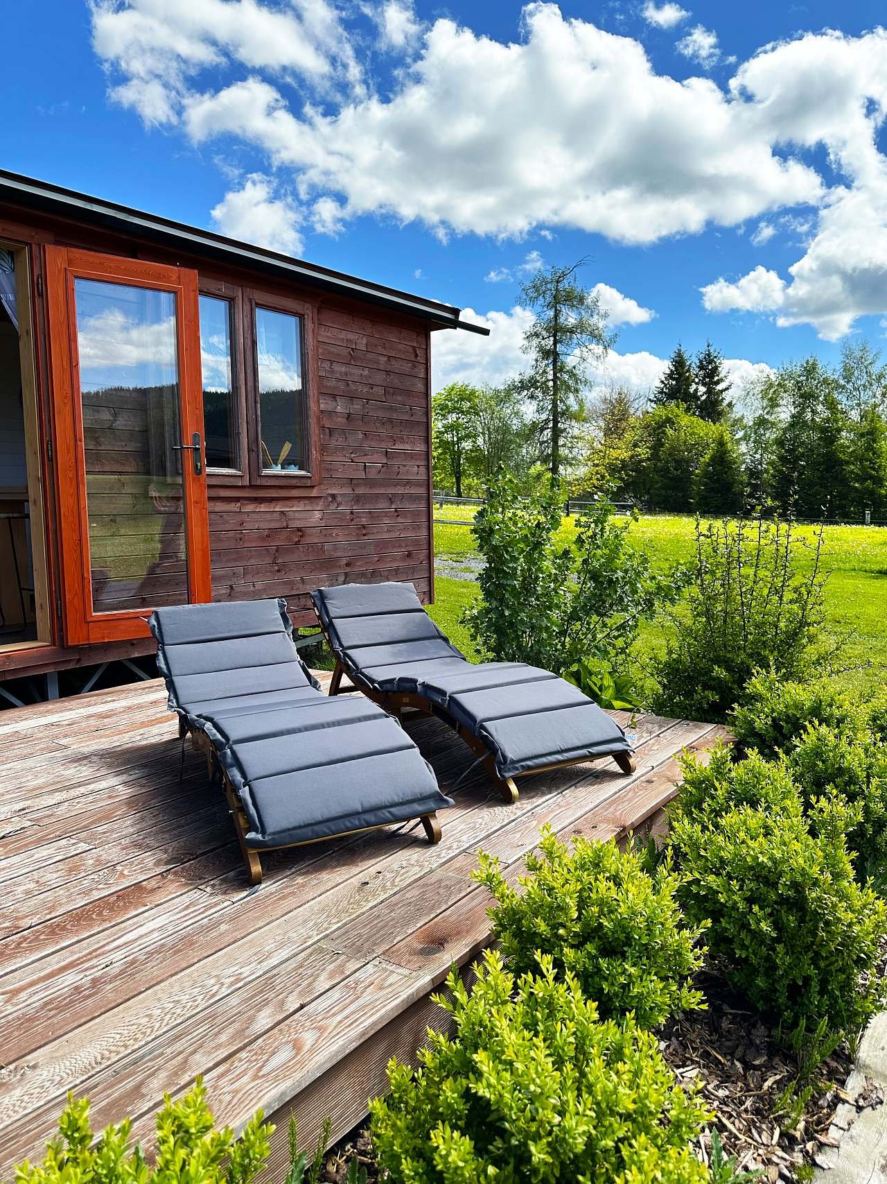
[(89, 1099), (75, 1101), (69, 1094), (59, 1138), (47, 1145), (41, 1164), (25, 1160), (15, 1169), (17, 1184), (248, 1184), (271, 1152), (274, 1128), (263, 1121), (261, 1111), (239, 1139), (231, 1127), (214, 1130), (200, 1079), (177, 1102), (166, 1095), (151, 1165), (141, 1146), (128, 1146), (131, 1119), (109, 1126), (93, 1143), (89, 1109)]

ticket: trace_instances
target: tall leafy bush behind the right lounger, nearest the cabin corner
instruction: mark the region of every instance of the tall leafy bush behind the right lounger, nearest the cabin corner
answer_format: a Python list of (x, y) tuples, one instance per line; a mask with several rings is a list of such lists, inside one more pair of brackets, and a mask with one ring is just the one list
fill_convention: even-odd
[(639, 623), (673, 603), (681, 585), (653, 574), (628, 541), (630, 523), (616, 523), (609, 503), (577, 519), (572, 543), (557, 539), (562, 509), (558, 487), (524, 500), (500, 471), (472, 527), (485, 565), (464, 619), (496, 661), (555, 674), (585, 663), (589, 691), (604, 675), (624, 674)]

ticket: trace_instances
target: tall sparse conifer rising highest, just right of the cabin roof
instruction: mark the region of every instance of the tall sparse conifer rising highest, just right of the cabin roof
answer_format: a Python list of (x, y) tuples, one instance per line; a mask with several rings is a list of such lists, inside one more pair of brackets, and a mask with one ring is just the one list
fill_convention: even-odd
[(576, 282), (583, 260), (569, 268), (540, 268), (520, 289), (536, 314), (524, 334), (523, 350), (532, 359), (526, 392), (537, 410), (543, 453), (553, 480), (561, 475), (564, 437), (581, 412), (589, 379), (587, 365), (607, 354), (615, 335), (597, 296)]

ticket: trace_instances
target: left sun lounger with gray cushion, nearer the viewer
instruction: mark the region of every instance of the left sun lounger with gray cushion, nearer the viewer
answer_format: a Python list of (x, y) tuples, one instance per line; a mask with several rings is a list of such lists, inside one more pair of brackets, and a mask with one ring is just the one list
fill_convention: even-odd
[(149, 625), (179, 715), (225, 784), (253, 883), (259, 851), (420, 818), (452, 805), (374, 703), (330, 700), (299, 658), (284, 600), (157, 609)]

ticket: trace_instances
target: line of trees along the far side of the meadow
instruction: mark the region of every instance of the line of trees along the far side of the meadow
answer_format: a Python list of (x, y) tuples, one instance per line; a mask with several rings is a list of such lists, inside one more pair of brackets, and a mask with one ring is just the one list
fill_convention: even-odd
[(504, 465), (527, 493), (546, 478), (570, 496), (656, 510), (887, 519), (887, 365), (847, 341), (836, 366), (815, 355), (731, 385), (706, 342), (680, 345), (655, 390), (590, 388), (588, 363), (615, 341), (580, 264), (524, 285), (536, 320), (526, 373), (498, 386), (451, 384), (432, 400), (434, 483), (481, 496)]

